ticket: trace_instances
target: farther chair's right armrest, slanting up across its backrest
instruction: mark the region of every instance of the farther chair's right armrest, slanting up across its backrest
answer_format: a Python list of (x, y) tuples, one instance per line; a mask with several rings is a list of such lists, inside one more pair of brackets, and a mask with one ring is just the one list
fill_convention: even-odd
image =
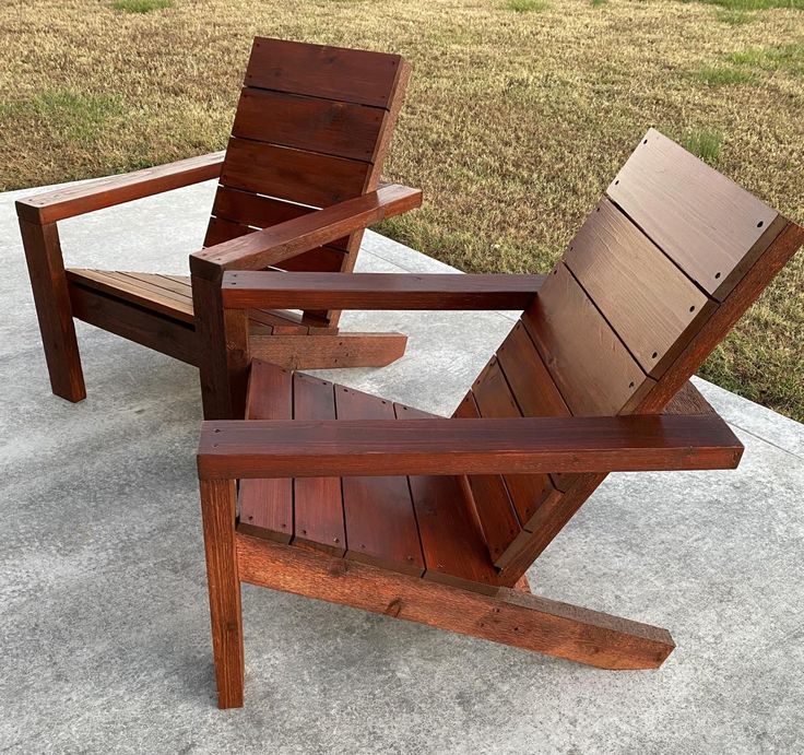
[(422, 204), (422, 191), (388, 184), (377, 191), (277, 223), (190, 255), (190, 270), (220, 281), (224, 270), (261, 270)]

